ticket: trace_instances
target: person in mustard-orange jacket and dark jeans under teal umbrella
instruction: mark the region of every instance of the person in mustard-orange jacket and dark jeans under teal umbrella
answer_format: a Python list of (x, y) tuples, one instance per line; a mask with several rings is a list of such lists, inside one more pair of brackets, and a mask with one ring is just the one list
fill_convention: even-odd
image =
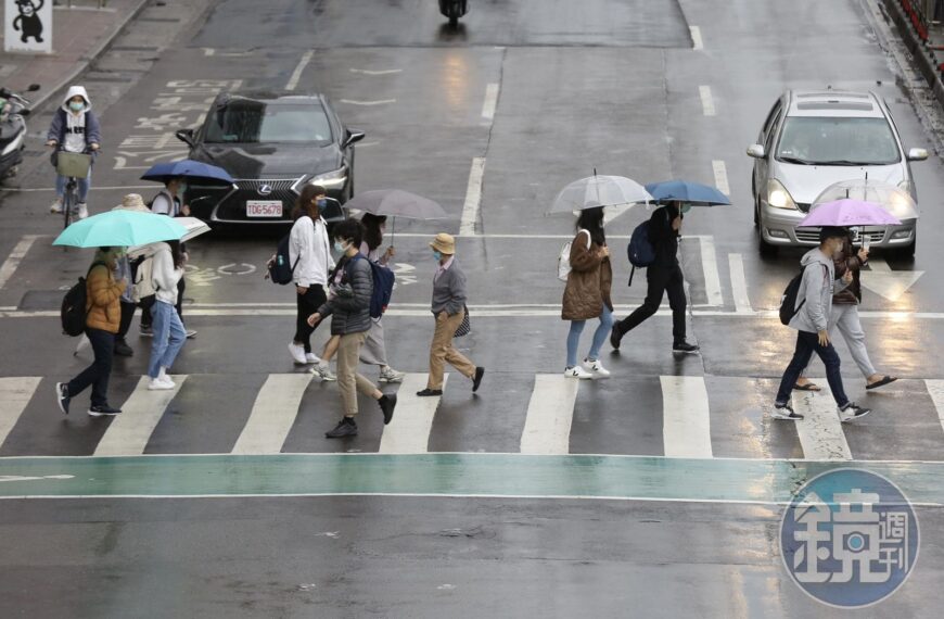
[(115, 281), (114, 273), (124, 248), (100, 248), (86, 278), (86, 336), (92, 344), (95, 361), (69, 382), (55, 383), (59, 407), (68, 415), (69, 401), (92, 388), (89, 415), (113, 416), (122, 410), (109, 405), (109, 378), (115, 354), (115, 333), (122, 321), (122, 293), (126, 280)]

